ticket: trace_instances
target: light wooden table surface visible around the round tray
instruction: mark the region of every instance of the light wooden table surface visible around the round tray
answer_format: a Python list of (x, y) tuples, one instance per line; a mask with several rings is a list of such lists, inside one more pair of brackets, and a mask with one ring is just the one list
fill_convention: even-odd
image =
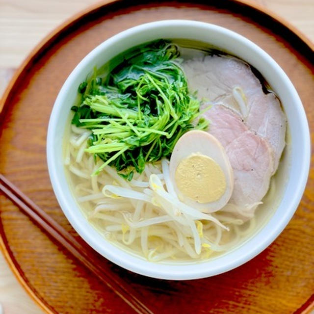
[[(253, 1), (253, 0), (252, 0)], [(0, 0), (0, 95), (14, 70), (52, 29), (95, 0)], [(314, 0), (254, 0), (314, 42)], [(306, 301), (306, 300), (305, 300)], [(0, 314), (41, 314), (0, 254)], [(314, 313), (314, 312), (313, 312)]]

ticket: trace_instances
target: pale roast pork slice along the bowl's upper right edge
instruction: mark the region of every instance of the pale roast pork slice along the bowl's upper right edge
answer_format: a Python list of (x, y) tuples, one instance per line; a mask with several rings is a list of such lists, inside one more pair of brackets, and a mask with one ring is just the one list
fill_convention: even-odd
[(234, 110), (249, 130), (267, 141), (274, 174), (286, 134), (286, 117), (278, 98), (273, 93), (264, 94), (250, 66), (236, 58), (217, 55), (194, 58), (184, 62), (183, 68), (190, 89), (197, 90), (200, 99)]

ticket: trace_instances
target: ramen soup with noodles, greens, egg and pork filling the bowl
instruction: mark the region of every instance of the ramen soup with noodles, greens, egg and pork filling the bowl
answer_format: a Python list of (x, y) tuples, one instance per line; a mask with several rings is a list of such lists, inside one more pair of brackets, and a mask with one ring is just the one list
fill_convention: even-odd
[(159, 40), (116, 56), (78, 86), (71, 119), (65, 165), (81, 210), (104, 241), (149, 261), (228, 252), (280, 201), (280, 100), (213, 47)]

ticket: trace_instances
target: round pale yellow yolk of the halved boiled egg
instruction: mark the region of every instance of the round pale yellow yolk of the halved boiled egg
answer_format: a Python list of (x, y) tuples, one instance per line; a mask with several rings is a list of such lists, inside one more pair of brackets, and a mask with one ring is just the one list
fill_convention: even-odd
[(227, 188), (221, 167), (202, 154), (183, 159), (176, 169), (175, 181), (182, 194), (202, 204), (219, 200)]

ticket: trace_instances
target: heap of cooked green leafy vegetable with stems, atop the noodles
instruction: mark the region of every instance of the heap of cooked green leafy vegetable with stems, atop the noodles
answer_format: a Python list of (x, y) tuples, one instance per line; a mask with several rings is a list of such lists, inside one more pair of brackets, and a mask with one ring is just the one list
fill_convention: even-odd
[(146, 162), (169, 157), (183, 133), (208, 127), (204, 118), (192, 125), (200, 103), (188, 91), (178, 56), (175, 45), (154, 42), (107, 78), (95, 70), (79, 85), (82, 100), (72, 107), (72, 123), (92, 130), (86, 151), (105, 161), (96, 173), (109, 164), (131, 180), (133, 168), (141, 173)]

